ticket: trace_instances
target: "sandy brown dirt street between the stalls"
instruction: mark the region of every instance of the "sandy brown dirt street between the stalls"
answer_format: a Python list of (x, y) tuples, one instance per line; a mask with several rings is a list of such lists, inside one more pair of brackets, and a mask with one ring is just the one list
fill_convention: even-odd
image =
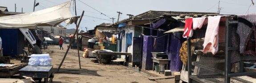
[[(151, 81), (148, 75), (135, 72), (122, 65), (104, 65), (93, 63), (90, 58), (81, 59), (81, 69), (79, 69), (78, 55), (76, 49), (70, 49), (60, 72), (56, 72), (67, 49), (60, 50), (57, 45), (48, 46), (54, 52), (50, 54), (54, 68), (53, 83), (157, 83)], [(80, 51), (80, 55), (82, 52)], [(170, 83), (159, 81), (159, 83)]]

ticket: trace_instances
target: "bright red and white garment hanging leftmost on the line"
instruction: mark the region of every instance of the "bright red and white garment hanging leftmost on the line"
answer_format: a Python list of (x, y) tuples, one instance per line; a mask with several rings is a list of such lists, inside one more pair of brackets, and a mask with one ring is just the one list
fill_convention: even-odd
[(193, 23), (193, 18), (189, 18), (189, 19), (185, 20), (183, 38), (192, 37), (192, 35), (193, 35), (193, 29), (191, 29), (192, 23)]

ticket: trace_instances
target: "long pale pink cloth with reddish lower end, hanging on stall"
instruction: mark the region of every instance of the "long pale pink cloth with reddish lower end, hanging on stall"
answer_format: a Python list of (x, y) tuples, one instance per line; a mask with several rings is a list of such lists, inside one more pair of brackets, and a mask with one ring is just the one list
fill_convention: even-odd
[(219, 49), (219, 20), (221, 16), (209, 16), (208, 26), (203, 42), (203, 53), (211, 52), (215, 55)]

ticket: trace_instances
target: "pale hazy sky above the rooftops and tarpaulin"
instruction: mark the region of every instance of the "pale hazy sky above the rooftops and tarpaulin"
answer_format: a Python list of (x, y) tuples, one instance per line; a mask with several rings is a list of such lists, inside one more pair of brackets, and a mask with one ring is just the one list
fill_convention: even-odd
[[(70, 0), (36, 0), (39, 6), (35, 7), (35, 11), (50, 8), (67, 1)], [(253, 2), (256, 3), (256, 0), (253, 0)], [(25, 13), (33, 12), (33, 3), (34, 0), (0, 0), (0, 6), (8, 7), (9, 11), (15, 11), (16, 4), (16, 12), (21, 12), (21, 8), (23, 8)], [(150, 10), (217, 12), (218, 4), (222, 8), (220, 14), (256, 13), (256, 4), (252, 5), (252, 0), (76, 0), (77, 15), (81, 15), (83, 10), (85, 11), (84, 15), (86, 15), (81, 20), (79, 28), (81, 30), (86, 30), (85, 27), (88, 28), (87, 30), (92, 30), (101, 23), (112, 23), (112, 19), (110, 19), (112, 17), (116, 18), (114, 22), (117, 22), (117, 11), (122, 12), (119, 19), (122, 20), (129, 18), (126, 14), (135, 16)], [(75, 16), (73, 3), (70, 11)], [(75, 28), (75, 25), (69, 25), (67, 28)]]

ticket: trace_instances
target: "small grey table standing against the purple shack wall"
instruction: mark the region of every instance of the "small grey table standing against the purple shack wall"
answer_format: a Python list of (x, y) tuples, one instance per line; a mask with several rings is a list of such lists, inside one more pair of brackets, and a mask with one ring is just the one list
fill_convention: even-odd
[(168, 59), (157, 59), (157, 58), (153, 58), (153, 57), (152, 57), (152, 60), (153, 60), (153, 71), (154, 71), (154, 63), (159, 64), (159, 74), (160, 74), (160, 72), (164, 72), (164, 71), (161, 71), (160, 64), (166, 64), (166, 69), (168, 69), (168, 64), (169, 64), (170, 60), (168, 60)]

